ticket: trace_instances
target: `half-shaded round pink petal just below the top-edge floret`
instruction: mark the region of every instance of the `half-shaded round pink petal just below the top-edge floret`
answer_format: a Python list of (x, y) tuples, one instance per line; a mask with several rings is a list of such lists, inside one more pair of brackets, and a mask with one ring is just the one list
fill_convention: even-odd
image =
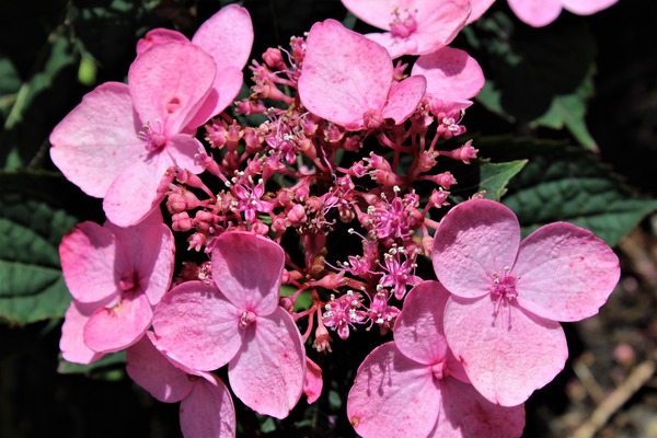
[(474, 97), (484, 87), (484, 72), (480, 65), (458, 48), (443, 47), (417, 58), (412, 74), (427, 79), (427, 93), (447, 102)]

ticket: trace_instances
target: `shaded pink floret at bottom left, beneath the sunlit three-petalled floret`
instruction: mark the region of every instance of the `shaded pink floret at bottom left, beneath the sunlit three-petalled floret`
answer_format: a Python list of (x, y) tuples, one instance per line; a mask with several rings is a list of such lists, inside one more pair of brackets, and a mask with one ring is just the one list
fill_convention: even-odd
[(160, 402), (181, 402), (185, 438), (234, 437), (235, 408), (223, 382), (211, 372), (172, 362), (152, 344), (150, 335), (128, 348), (128, 376)]

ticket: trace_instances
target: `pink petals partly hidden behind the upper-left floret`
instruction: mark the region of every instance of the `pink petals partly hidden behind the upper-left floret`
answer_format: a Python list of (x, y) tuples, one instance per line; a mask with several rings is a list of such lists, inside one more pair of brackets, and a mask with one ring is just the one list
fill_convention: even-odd
[(217, 76), (197, 119), (200, 124), (221, 113), (238, 96), (243, 83), (242, 69), (253, 46), (253, 23), (249, 11), (238, 4), (221, 8), (198, 27), (192, 42), (180, 32), (154, 28), (137, 43), (137, 54), (170, 42), (192, 43), (210, 55)]

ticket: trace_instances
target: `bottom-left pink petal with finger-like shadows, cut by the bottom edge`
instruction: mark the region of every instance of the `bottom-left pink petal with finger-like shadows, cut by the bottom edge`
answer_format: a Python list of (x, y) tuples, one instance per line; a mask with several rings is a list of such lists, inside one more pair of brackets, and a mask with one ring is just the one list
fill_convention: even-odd
[(347, 399), (349, 422), (364, 438), (426, 437), (440, 411), (438, 382), (431, 367), (406, 358), (392, 342), (383, 344), (358, 367)]

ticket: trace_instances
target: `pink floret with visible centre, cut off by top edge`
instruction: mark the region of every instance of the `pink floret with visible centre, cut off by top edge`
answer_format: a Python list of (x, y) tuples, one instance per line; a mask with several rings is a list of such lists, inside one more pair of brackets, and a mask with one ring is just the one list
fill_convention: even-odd
[(366, 35), (399, 58), (427, 55), (447, 46), (465, 25), (468, 0), (342, 0), (354, 15), (389, 31)]

